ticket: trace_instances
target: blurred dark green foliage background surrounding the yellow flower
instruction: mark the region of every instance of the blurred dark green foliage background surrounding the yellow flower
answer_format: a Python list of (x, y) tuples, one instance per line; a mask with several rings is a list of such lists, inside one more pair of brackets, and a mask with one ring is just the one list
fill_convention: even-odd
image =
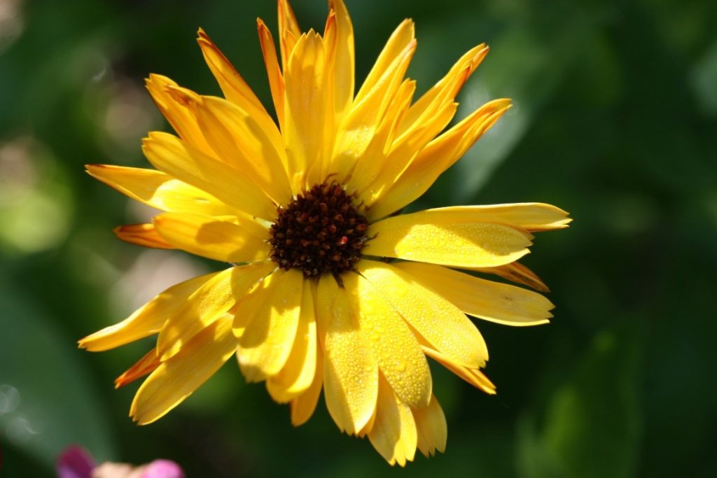
[[(147, 165), (140, 139), (168, 130), (150, 72), (219, 94), (200, 26), (270, 105), (255, 17), (276, 32), (275, 3), (0, 0), (0, 475), (53, 476), (78, 443), (100, 461), (174, 459), (190, 477), (717, 476), (717, 2), (347, 4), (359, 79), (407, 16), (419, 91), (492, 47), (459, 117), (495, 97), (515, 107), (414, 207), (570, 211), (571, 229), (539, 234), (525, 261), (551, 287), (551, 325), (480, 323), (497, 397), (435, 367), (447, 451), (407, 469), (339, 434), (323, 401), (293, 428), (232, 360), (133, 425), (137, 385), (113, 378), (150, 343), (93, 354), (75, 341), (220, 266), (115, 239), (148, 211), (83, 165)], [(323, 29), (323, 1), (293, 5), (303, 29)]]

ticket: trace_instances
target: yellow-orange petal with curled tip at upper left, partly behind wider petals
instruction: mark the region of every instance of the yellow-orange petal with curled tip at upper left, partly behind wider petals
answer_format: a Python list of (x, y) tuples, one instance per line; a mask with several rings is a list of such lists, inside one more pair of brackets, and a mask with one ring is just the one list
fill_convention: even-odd
[(212, 156), (214, 154), (212, 147), (206, 143), (194, 115), (185, 104), (178, 102), (171, 95), (172, 88), (177, 88), (179, 85), (168, 77), (151, 73), (146, 80), (146, 87), (152, 100), (179, 137), (202, 153)]

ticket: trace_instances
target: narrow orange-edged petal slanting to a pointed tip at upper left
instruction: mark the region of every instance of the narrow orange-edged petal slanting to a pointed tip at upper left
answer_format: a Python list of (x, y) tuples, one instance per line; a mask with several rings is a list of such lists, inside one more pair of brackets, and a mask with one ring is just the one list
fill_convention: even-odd
[[(212, 74), (217, 78), (219, 87), (224, 92), (224, 97), (246, 111), (254, 120), (256, 127), (261, 130), (262, 135), (266, 135), (274, 144), (280, 144), (281, 134), (262, 102), (202, 29), (199, 29), (197, 42), (201, 47), (202, 54), (204, 54), (206, 64), (209, 65), (209, 70), (212, 70)], [(204, 130), (204, 135), (206, 136), (206, 130)], [(212, 144), (210, 138), (207, 138), (207, 140), (209, 140), (209, 144)]]

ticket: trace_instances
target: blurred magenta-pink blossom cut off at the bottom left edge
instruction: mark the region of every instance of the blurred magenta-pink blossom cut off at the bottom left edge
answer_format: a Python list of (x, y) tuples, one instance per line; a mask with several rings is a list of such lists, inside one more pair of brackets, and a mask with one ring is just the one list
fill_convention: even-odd
[(57, 459), (57, 478), (184, 478), (175, 462), (158, 459), (135, 467), (126, 463), (98, 465), (80, 446), (72, 445)]

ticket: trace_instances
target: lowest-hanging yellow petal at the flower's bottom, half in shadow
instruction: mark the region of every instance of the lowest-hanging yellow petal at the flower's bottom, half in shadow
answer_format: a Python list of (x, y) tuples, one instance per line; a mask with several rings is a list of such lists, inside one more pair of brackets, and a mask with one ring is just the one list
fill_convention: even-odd
[(369, 441), (389, 464), (406, 466), (416, 455), (418, 434), (411, 408), (391, 390), (383, 374), (379, 378), (376, 419), (369, 431)]

